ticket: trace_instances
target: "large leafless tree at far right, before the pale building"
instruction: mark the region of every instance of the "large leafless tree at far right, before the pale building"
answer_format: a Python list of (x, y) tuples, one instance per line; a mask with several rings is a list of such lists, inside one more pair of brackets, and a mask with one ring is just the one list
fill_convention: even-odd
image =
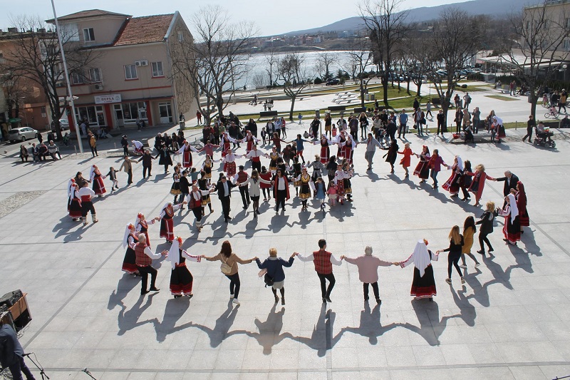
[(513, 35), (506, 39), (507, 53), (502, 58), (515, 68), (522, 84), (528, 86), (534, 117), (542, 86), (556, 76), (570, 56), (569, 49), (564, 48), (564, 41), (570, 38), (569, 17), (564, 11), (552, 11), (542, 4), (529, 6), (509, 19)]

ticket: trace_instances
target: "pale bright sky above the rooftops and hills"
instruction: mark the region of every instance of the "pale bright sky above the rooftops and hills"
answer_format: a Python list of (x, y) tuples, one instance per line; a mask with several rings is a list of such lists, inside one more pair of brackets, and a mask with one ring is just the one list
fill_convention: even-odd
[[(284, 34), (289, 31), (318, 28), (351, 16), (358, 16), (358, 0), (53, 0), (58, 16), (65, 16), (86, 9), (103, 9), (132, 16), (170, 14), (179, 11), (192, 31), (190, 20), (200, 6), (219, 5), (228, 10), (234, 21), (254, 21), (260, 36)], [(420, 6), (437, 6), (459, 3), (465, 0), (401, 0), (403, 9)], [(50, 0), (0, 0), (0, 29), (11, 26), (10, 17), (27, 14), (53, 19)], [(426, 4), (427, 3), (427, 4)], [(279, 5), (272, 5), (279, 4)], [(286, 6), (285, 6), (286, 5)], [(32, 13), (33, 12), (33, 13)]]

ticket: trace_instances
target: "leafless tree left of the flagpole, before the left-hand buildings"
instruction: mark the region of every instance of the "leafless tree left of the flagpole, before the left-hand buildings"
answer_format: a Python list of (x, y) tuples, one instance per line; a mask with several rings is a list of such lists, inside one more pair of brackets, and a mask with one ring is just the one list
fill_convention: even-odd
[[(38, 83), (48, 101), (58, 139), (61, 139), (59, 119), (68, 106), (68, 100), (67, 96), (62, 100), (61, 93), (58, 93), (58, 88), (64, 88), (66, 83), (58, 38), (38, 16), (15, 16), (10, 21), (21, 33), (14, 34), (9, 48), (3, 51), (2, 70), (11, 72), (14, 78)], [(88, 81), (86, 73), (93, 68), (101, 53), (83, 48), (78, 43), (77, 31), (63, 28), (60, 34), (70, 75), (73, 73), (79, 80)]]

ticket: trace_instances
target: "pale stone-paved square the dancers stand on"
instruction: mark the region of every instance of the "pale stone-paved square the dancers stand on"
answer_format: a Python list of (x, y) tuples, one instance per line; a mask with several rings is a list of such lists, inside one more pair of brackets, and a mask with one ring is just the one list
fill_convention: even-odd
[[(289, 136), (297, 133), (290, 125)], [(300, 130), (298, 128), (298, 130)], [(356, 266), (334, 267), (331, 304), (322, 304), (311, 263), (295, 260), (285, 269), (286, 306), (275, 305), (258, 278), (257, 266), (239, 268), (239, 307), (229, 302), (228, 280), (219, 262), (190, 262), (192, 299), (173, 299), (170, 264), (154, 263), (161, 291), (139, 297), (139, 279), (121, 272), (124, 227), (138, 212), (155, 217), (166, 200), (171, 175), (154, 165), (153, 176), (95, 201), (98, 224), (81, 227), (66, 213), (66, 184), (96, 163), (106, 173), (118, 158), (68, 157), (41, 165), (0, 159), (0, 289), (28, 293), (33, 321), (21, 342), (52, 379), (553, 379), (570, 374), (570, 146), (556, 150), (520, 142), (510, 130), (502, 145), (448, 144), (433, 135), (408, 135), (414, 151), (422, 144), (483, 163), (487, 174), (512, 170), (526, 185), (531, 227), (517, 247), (502, 241), (502, 219), (490, 239), (494, 257), (474, 269), (468, 259), (465, 285), (445, 283), (447, 255), (434, 263), (435, 302), (413, 301), (411, 267), (380, 268), (380, 307), (363, 302)], [(560, 137), (561, 131), (556, 130)], [(400, 143), (400, 147), (403, 143)], [(333, 149), (336, 150), (336, 149)], [(242, 146), (240, 153), (243, 153)], [(305, 151), (312, 158), (316, 148)], [(445, 190), (389, 175), (377, 151), (366, 173), (364, 148), (355, 152), (354, 202), (323, 213), (292, 197), (284, 215), (261, 205), (253, 219), (234, 190), (234, 219), (225, 225), (221, 205), (205, 217), (199, 234), (192, 213), (177, 212), (175, 233), (192, 254), (214, 255), (230, 240), (242, 258), (264, 258), (269, 247), (281, 257), (309, 253), (325, 238), (336, 257), (362, 255), (371, 245), (384, 260), (400, 261), (426, 238), (432, 250), (447, 247), (452, 225), (482, 210), (452, 200)], [(219, 155), (219, 153), (217, 153)], [(217, 157), (219, 158), (219, 157)], [(198, 163), (203, 160), (199, 155)], [(243, 160), (240, 160), (243, 162)], [(268, 160), (262, 160), (266, 165)], [(417, 160), (412, 160), (412, 165)], [(440, 185), (450, 172), (440, 173)], [(214, 178), (217, 174), (214, 173)], [(110, 183), (105, 181), (110, 188)], [(292, 195), (294, 190), (291, 188)], [(482, 201), (502, 205), (502, 183), (488, 182)], [(271, 205), (274, 203), (271, 202)], [(150, 226), (152, 247), (167, 248)], [(477, 248), (475, 243), (474, 250)], [(28, 364), (29, 363), (28, 361)], [(37, 374), (37, 372), (34, 372)]]

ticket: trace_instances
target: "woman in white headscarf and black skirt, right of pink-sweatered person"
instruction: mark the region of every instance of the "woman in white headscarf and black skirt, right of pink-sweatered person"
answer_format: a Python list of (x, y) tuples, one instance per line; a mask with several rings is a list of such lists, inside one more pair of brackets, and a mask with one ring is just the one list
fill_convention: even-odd
[(414, 265), (414, 279), (412, 280), (412, 289), (410, 296), (415, 299), (427, 298), (433, 301), (433, 296), (437, 295), (435, 289), (435, 279), (433, 278), (432, 261), (437, 261), (438, 255), (427, 250), (427, 240), (418, 240), (415, 245), (413, 254), (403, 262), (395, 262), (395, 265), (407, 267)]

